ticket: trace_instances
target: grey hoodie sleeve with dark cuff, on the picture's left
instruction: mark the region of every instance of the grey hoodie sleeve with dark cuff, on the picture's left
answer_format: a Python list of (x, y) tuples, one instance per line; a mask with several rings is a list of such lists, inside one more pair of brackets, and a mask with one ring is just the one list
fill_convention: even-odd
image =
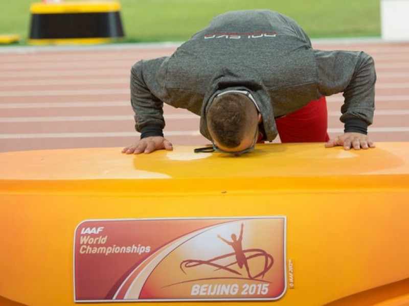
[(166, 58), (142, 60), (131, 68), (130, 91), (134, 111), (135, 129), (141, 132), (141, 139), (149, 136), (163, 136), (165, 120), (163, 99), (165, 94), (161, 81), (161, 65)]

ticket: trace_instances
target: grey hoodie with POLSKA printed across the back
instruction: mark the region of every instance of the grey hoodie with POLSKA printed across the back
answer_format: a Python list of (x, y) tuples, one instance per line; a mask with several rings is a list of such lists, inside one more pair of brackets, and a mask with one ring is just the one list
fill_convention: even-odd
[(363, 52), (313, 50), (300, 26), (269, 10), (216, 16), (170, 57), (142, 60), (131, 69), (131, 103), (141, 137), (161, 135), (163, 103), (201, 116), (220, 92), (245, 89), (260, 109), (267, 140), (277, 136), (275, 117), (312, 100), (343, 92), (340, 120), (346, 132), (366, 133), (372, 123), (376, 74)]

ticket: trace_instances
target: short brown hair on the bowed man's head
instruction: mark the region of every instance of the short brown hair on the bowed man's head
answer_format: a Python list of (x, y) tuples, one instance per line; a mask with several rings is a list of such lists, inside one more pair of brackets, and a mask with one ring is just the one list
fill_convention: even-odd
[(207, 124), (217, 142), (227, 148), (238, 147), (257, 110), (250, 98), (231, 92), (216, 97), (206, 113)]

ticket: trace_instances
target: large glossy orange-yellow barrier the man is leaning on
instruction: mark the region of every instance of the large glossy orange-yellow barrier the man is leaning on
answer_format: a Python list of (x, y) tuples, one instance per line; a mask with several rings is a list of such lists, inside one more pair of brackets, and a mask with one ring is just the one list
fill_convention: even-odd
[[(199, 233), (203, 228), (212, 233), (202, 240), (208, 249), (228, 250), (216, 237), (221, 221), (233, 224), (237, 236), (244, 224), (243, 249), (267, 250), (274, 264), (265, 269), (265, 275), (255, 277), (254, 261), (248, 258), (252, 277), (233, 263), (229, 267), (241, 275), (219, 281), (229, 283), (234, 278), (237, 284), (252, 285), (263, 294), (264, 289), (277, 286), (282, 276), (283, 290), (272, 302), (258, 299), (257, 294), (244, 298), (230, 292), (232, 298), (203, 291), (199, 296), (192, 287), (191, 299), (184, 302), (164, 291), (166, 301), (161, 305), (209, 305), (198, 297), (216, 297), (212, 305), (226, 304), (226, 298), (235, 300), (230, 303), (234, 305), (409, 303), (409, 143), (378, 143), (375, 149), (360, 151), (326, 149), (323, 144), (266, 144), (241, 157), (193, 153), (193, 149), (176, 146), (172, 152), (142, 155), (121, 154), (120, 148), (0, 153), (0, 304), (74, 305), (75, 291), (80, 296), (80, 291), (93, 290), (78, 285), (81, 279), (74, 285), (74, 278), (94, 277), (98, 271), (92, 267), (104, 272), (102, 263), (117, 262), (124, 272), (137, 267), (132, 273), (143, 274), (138, 269), (146, 270), (156, 260), (153, 266), (161, 279), (184, 277), (176, 268), (166, 268), (175, 255), (164, 250), (178, 243), (172, 246), (177, 251), (197, 237), (205, 239), (205, 233)], [(259, 225), (260, 220), (267, 221)], [(271, 225), (276, 221), (279, 226)], [(87, 255), (87, 261), (82, 261), (77, 248), (82, 239), (97, 238), (103, 244), (107, 237), (117, 246), (120, 239), (131, 239), (121, 222), (139, 230), (132, 235), (139, 235), (142, 246), (149, 239), (163, 238), (166, 243), (158, 243), (157, 252), (143, 264), (138, 262), (140, 254), (135, 255), (138, 260), (132, 267), (126, 266), (128, 257), (119, 249), (112, 256), (107, 252), (100, 257)], [(108, 236), (97, 234), (109, 226)], [(277, 230), (258, 232), (261, 227)], [(173, 237), (173, 232), (183, 234)], [(205, 258), (198, 251), (202, 247), (185, 248), (189, 259)], [(277, 270), (281, 264), (283, 269)], [(109, 272), (112, 275), (101, 272), (93, 278), (94, 285), (101, 292), (104, 286), (118, 289), (113, 274), (125, 274), (117, 270)], [(205, 270), (200, 273), (209, 273)], [(279, 270), (284, 274), (269, 281), (268, 275)], [(151, 277), (155, 273), (159, 272), (152, 270)], [(111, 279), (112, 284), (100, 284), (99, 279)], [(138, 286), (138, 281), (132, 286)], [(106, 301), (113, 301), (106, 292), (105, 297), (112, 297)], [(95, 305), (101, 300), (97, 295), (87, 298)]]

